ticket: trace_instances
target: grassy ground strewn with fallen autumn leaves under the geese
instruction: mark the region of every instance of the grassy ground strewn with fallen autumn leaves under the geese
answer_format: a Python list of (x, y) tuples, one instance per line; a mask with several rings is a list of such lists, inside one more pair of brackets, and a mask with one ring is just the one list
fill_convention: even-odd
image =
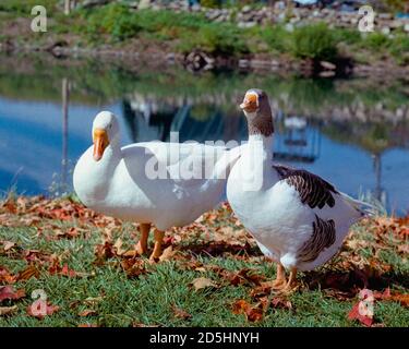
[[(168, 231), (155, 265), (134, 255), (136, 231), (72, 200), (3, 201), (0, 287), (12, 292), (0, 288), (0, 326), (362, 326), (348, 320), (362, 288), (375, 291), (373, 325), (409, 326), (408, 218), (353, 227), (287, 298), (265, 284), (275, 268), (227, 205)], [(44, 318), (27, 313), (35, 289), (48, 297)]]

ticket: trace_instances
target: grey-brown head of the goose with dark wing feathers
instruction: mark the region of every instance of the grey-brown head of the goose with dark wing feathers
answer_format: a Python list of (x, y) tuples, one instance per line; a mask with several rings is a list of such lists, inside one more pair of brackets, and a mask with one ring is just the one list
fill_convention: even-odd
[(272, 107), (264, 91), (249, 89), (240, 108), (248, 119), (250, 134), (270, 136), (274, 133)]

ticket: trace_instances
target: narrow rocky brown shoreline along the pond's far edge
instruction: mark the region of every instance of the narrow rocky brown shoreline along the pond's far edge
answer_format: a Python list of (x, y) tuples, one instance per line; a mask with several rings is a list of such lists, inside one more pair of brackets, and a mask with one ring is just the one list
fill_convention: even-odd
[[(184, 67), (192, 72), (201, 71), (238, 71), (272, 72), (288, 76), (296, 74), (304, 77), (353, 79), (371, 77), (381, 81), (402, 80), (409, 82), (409, 65), (397, 65), (387, 60), (372, 64), (356, 63), (351, 59), (340, 59), (338, 62), (325, 60), (298, 60), (285, 55), (243, 55), (242, 57), (210, 56), (201, 50), (189, 55), (163, 50), (158, 45), (152, 45), (145, 51), (131, 48), (118, 49), (115, 46), (103, 48), (81, 48), (68, 46), (65, 41), (56, 41), (48, 45), (19, 45), (11, 40), (0, 41), (0, 55), (37, 53), (44, 52), (60, 60), (100, 59), (109, 62), (120, 59), (125, 64), (135, 62), (147, 64), (148, 68), (168, 68), (171, 65)], [(387, 72), (387, 75), (385, 73)]]

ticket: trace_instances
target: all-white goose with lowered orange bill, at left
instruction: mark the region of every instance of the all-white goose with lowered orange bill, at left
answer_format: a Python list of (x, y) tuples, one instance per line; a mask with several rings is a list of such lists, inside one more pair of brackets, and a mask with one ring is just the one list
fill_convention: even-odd
[(227, 151), (199, 143), (121, 147), (119, 124), (109, 111), (96, 116), (93, 141), (75, 166), (74, 190), (87, 207), (140, 222), (140, 254), (146, 252), (155, 225), (151, 260), (160, 256), (166, 229), (189, 225), (219, 203), (230, 167), (240, 155), (240, 147)]

